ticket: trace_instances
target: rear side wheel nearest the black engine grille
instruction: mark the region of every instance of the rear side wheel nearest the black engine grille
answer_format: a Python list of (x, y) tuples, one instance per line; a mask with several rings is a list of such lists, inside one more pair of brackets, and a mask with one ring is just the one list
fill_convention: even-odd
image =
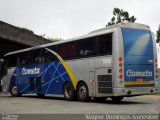
[(84, 82), (78, 85), (77, 96), (78, 100), (81, 102), (88, 102), (90, 100), (88, 87)]

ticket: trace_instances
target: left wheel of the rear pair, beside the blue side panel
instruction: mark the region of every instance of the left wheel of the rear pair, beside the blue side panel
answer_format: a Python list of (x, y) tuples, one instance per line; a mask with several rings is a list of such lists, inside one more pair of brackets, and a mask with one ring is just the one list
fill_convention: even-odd
[(76, 92), (74, 91), (72, 84), (69, 82), (64, 84), (63, 93), (65, 100), (71, 101), (76, 99)]

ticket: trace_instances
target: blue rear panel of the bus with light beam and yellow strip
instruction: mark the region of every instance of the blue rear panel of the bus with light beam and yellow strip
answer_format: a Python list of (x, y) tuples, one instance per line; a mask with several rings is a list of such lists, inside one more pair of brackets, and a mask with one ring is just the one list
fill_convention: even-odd
[(154, 86), (154, 54), (151, 32), (123, 28), (122, 34), (125, 86)]

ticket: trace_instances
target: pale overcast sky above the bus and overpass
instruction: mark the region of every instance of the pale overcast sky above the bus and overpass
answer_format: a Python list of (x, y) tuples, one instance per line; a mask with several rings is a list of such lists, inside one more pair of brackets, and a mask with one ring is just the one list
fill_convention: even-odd
[(160, 0), (0, 0), (0, 20), (46, 38), (69, 39), (105, 27), (115, 7), (156, 33)]

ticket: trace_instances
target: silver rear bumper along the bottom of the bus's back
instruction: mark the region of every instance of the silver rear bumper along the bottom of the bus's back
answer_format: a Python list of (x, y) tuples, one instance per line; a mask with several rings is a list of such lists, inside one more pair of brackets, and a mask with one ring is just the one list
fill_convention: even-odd
[(126, 87), (113, 88), (114, 96), (136, 96), (158, 93), (158, 87)]

